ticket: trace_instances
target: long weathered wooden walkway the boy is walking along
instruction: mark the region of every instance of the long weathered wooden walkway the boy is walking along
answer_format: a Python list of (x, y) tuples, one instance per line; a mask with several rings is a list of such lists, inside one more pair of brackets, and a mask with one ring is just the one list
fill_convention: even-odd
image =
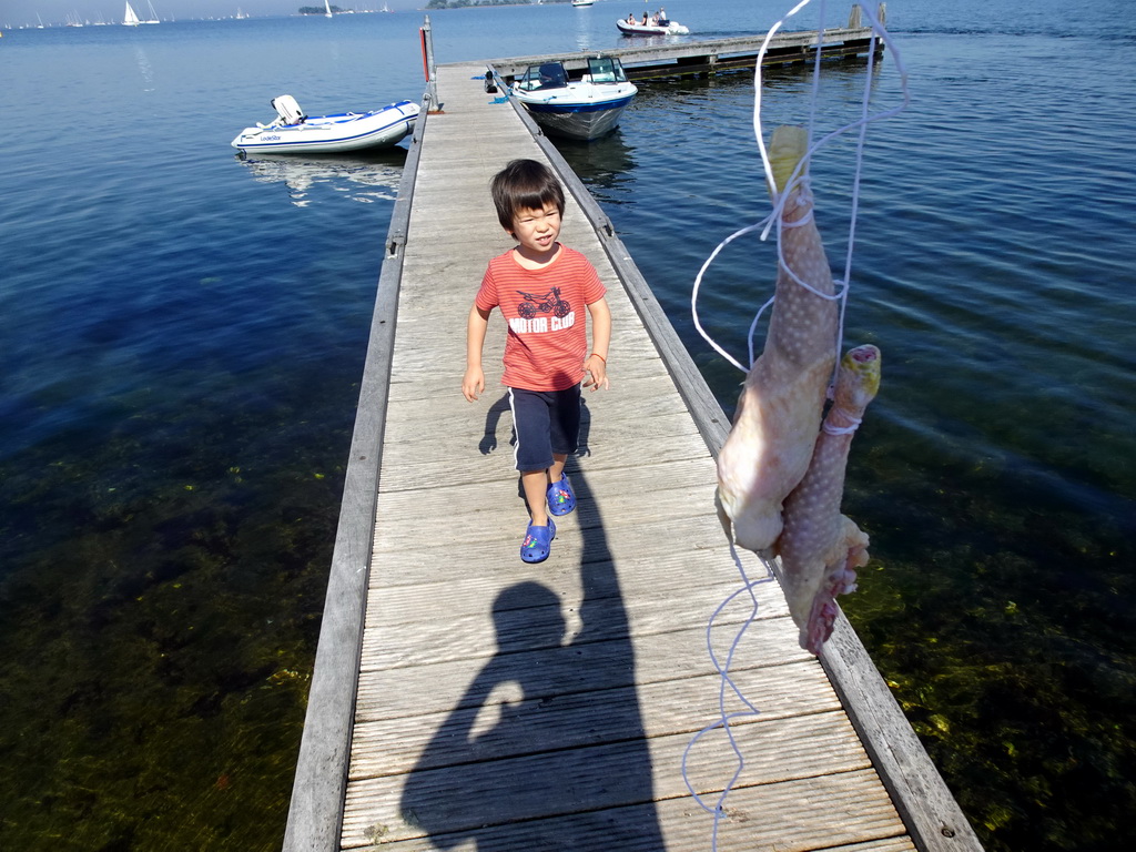
[[(710, 849), (683, 759), (719, 716), (708, 641), (725, 659), (751, 615), (740, 600), (708, 632), (742, 585), (712, 502), (728, 424), (615, 228), (484, 72), (438, 69), (444, 111), (423, 112), (392, 219), (284, 849)], [(511, 245), (488, 182), (516, 157), (561, 174), (561, 239), (613, 318), (612, 387), (585, 393), (569, 460), (578, 509), (536, 566), (496, 312), (486, 393), (460, 393), (474, 293)], [(732, 726), (745, 766), (718, 849), (979, 850), (846, 621), (817, 660), (776, 583), (754, 593), (732, 673), (760, 715)], [(687, 769), (713, 804), (737, 769), (720, 730)]]

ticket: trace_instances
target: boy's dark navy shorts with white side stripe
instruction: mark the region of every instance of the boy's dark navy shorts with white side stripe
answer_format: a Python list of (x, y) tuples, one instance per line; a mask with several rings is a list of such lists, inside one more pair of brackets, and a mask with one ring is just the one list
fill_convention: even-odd
[(565, 391), (509, 389), (509, 407), (517, 432), (517, 469), (552, 467), (552, 453), (570, 456), (579, 444), (579, 385)]

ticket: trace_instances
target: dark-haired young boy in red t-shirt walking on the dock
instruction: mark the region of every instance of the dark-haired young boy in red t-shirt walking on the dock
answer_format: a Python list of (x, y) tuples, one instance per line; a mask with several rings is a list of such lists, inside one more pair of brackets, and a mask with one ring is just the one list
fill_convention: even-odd
[[(509, 326), (501, 383), (509, 389), (529, 513), (520, 558), (543, 562), (557, 535), (550, 515), (576, 508), (565, 461), (579, 441), (580, 387), (608, 387), (611, 314), (595, 268), (558, 242), (565, 195), (556, 175), (536, 160), (513, 160), (491, 190), (498, 219), (517, 245), (490, 261), (474, 299), (461, 392), (473, 402), (485, 390), (482, 348), (490, 312), (500, 308)], [(592, 317), (591, 350), (584, 306)]]

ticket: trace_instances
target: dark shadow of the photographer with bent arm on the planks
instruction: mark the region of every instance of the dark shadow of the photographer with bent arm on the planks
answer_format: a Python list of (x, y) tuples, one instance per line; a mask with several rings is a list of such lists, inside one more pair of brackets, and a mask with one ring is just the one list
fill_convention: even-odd
[(569, 638), (560, 596), (542, 583), (496, 596), (498, 651), (403, 787), (403, 819), (438, 849), (663, 847), (619, 580), (587, 477), (569, 466), (582, 624)]

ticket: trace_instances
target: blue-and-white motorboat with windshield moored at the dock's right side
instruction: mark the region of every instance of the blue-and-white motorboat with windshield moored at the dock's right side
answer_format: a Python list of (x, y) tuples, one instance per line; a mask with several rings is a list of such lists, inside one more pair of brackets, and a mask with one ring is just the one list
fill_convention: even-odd
[(638, 89), (612, 57), (587, 60), (587, 73), (569, 80), (562, 62), (531, 65), (512, 85), (512, 95), (548, 133), (592, 140), (619, 124)]

